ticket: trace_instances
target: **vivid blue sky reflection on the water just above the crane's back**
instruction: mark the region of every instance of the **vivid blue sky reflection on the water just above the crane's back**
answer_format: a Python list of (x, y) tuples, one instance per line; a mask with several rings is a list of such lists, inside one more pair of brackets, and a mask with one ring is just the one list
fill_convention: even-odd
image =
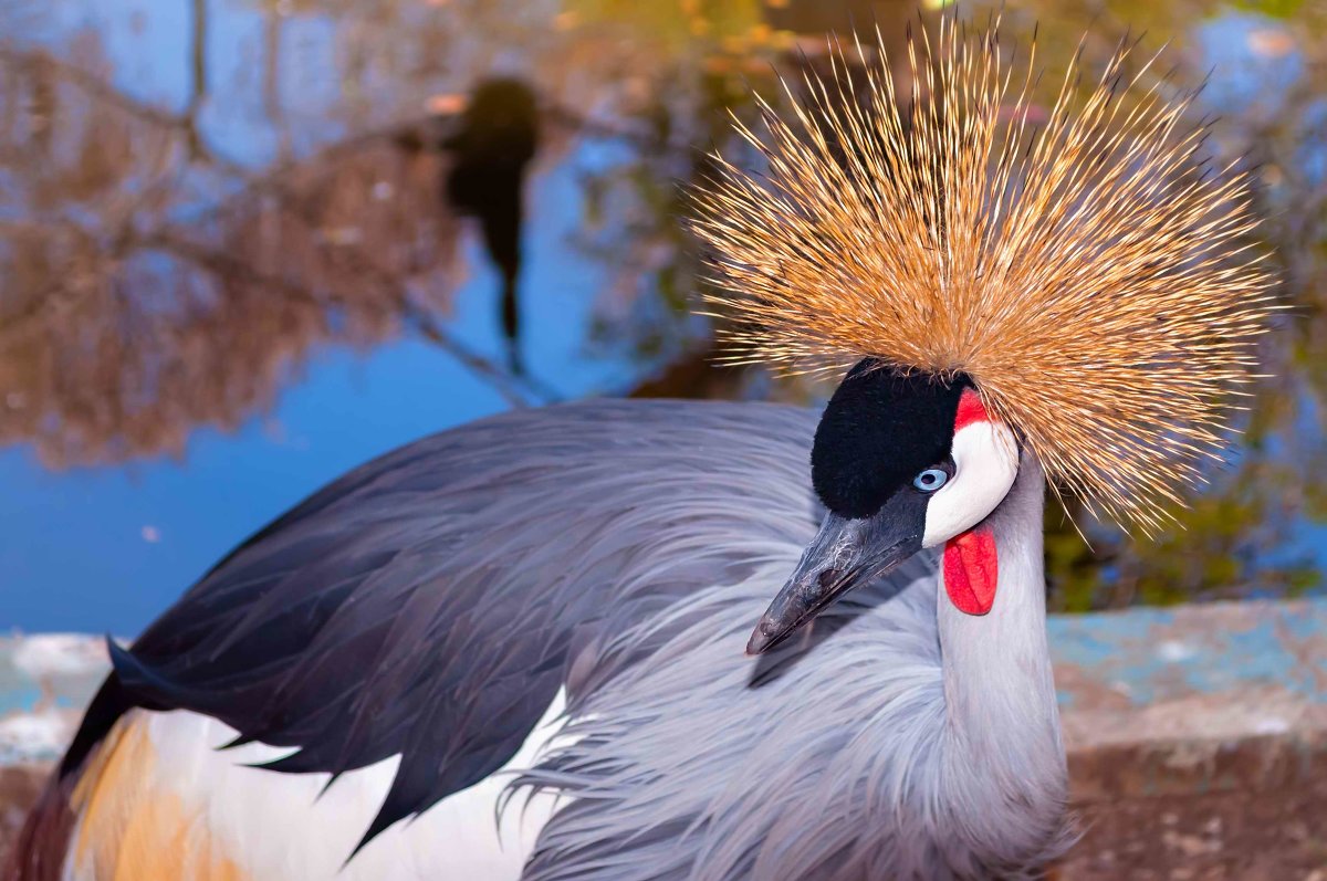
[[(576, 178), (613, 161), (587, 145), (529, 192), (527, 357), (565, 397), (624, 387), (642, 369), (585, 352), (602, 264), (579, 257)], [(471, 239), (472, 277), (454, 329), (499, 357), (496, 273)], [(0, 452), (0, 628), (133, 634), (218, 557), (349, 467), (414, 438), (507, 407), (492, 386), (417, 340), (330, 350), (287, 389), (276, 411), (236, 435), (198, 433), (183, 462), (42, 468), (29, 450)]]

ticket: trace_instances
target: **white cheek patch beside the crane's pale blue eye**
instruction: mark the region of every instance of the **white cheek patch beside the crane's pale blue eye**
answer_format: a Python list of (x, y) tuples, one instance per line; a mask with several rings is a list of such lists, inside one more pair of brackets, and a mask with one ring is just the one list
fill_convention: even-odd
[(926, 503), (924, 548), (967, 532), (1001, 503), (1018, 476), (1018, 444), (999, 422), (971, 422), (954, 433), (954, 476)]

